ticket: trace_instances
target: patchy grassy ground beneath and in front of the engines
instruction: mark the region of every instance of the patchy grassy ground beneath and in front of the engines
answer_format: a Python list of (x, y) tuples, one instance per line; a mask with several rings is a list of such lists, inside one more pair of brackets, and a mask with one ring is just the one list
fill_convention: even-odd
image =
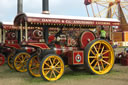
[(10, 70), (5, 64), (0, 67), (0, 85), (128, 85), (128, 67), (115, 65), (106, 75), (91, 75), (87, 72), (65, 70), (62, 78), (55, 82), (47, 82), (42, 78), (32, 78), (28, 73)]

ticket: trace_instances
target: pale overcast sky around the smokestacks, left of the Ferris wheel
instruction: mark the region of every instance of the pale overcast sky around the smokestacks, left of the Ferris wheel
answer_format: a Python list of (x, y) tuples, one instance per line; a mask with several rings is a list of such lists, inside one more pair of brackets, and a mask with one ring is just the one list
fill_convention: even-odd
[[(49, 0), (50, 13), (57, 15), (87, 16), (84, 0)], [(42, 0), (23, 0), (23, 11), (41, 13)], [(0, 21), (13, 21), (17, 14), (17, 0), (0, 0)]]

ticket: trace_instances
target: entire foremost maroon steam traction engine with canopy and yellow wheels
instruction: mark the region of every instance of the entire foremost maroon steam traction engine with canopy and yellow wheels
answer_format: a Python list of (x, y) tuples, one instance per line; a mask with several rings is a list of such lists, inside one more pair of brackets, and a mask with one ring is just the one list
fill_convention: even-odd
[[(16, 16), (14, 24), (26, 27), (24, 45), (36, 49), (27, 64), (31, 76), (55, 81), (63, 75), (65, 65), (72, 70), (83, 66), (99, 75), (113, 67), (113, 48), (107, 41), (96, 39), (89, 29), (119, 26), (116, 19), (26, 13)], [(29, 42), (27, 30), (31, 27), (43, 28), (42, 42)]]

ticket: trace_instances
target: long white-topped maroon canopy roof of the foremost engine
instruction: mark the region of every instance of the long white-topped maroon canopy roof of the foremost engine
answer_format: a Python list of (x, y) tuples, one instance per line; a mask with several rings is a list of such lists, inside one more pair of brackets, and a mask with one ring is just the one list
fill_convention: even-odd
[(119, 26), (120, 21), (110, 18), (94, 18), (94, 17), (78, 17), (78, 16), (62, 16), (49, 14), (22, 13), (15, 17), (14, 25), (19, 26), (29, 24), (59, 24), (59, 25), (106, 25)]

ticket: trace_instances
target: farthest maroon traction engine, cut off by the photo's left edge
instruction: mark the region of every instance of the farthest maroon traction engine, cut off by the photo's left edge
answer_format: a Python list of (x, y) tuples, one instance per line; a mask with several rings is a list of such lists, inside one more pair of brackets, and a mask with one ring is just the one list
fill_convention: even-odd
[[(17, 40), (18, 31), (12, 23), (1, 22), (0, 24), (0, 43), (1, 43), (1, 53), (8, 58), (8, 66), (12, 66), (12, 57), (14, 49), (20, 48)], [(3, 57), (3, 61), (5, 61)]]

